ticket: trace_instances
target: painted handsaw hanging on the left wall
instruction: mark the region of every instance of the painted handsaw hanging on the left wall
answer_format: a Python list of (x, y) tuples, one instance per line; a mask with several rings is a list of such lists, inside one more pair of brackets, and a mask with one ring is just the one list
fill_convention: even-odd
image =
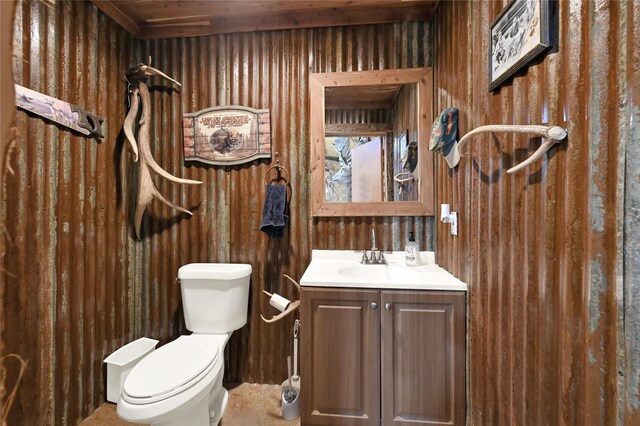
[(79, 106), (60, 99), (52, 98), (18, 84), (16, 88), (16, 106), (41, 117), (91, 137), (104, 138), (102, 123), (104, 118), (91, 114)]

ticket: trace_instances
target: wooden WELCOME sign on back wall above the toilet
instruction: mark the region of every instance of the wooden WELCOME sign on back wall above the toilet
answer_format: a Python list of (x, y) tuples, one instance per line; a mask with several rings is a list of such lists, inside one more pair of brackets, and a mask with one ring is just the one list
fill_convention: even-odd
[(268, 109), (211, 107), (182, 119), (184, 159), (215, 165), (271, 158)]

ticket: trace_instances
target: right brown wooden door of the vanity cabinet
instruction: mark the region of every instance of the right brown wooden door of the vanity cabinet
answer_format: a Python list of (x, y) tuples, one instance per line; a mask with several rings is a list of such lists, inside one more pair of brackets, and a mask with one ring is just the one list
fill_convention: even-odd
[(465, 296), (382, 292), (383, 426), (465, 422)]

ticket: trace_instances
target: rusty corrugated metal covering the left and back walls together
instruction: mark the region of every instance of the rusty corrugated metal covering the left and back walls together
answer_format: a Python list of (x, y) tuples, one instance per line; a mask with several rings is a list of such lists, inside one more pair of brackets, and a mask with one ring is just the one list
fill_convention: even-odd
[[(180, 265), (252, 264), (249, 321), (228, 344), (226, 379), (279, 383), (293, 319), (263, 323), (260, 313), (273, 312), (262, 289), (295, 298), (282, 273), (299, 279), (312, 247), (367, 247), (372, 226), (385, 249), (401, 249), (413, 227), (431, 248), (432, 218), (311, 218), (307, 130), (309, 72), (430, 65), (430, 37), (428, 24), (409, 23), (141, 42), (88, 2), (19, 2), (16, 83), (107, 120), (106, 137), (96, 142), (17, 114), (16, 174), (3, 181), (1, 212), (8, 238), (2, 349), (29, 365), (9, 423), (78, 423), (104, 401), (105, 356), (143, 335), (165, 343), (183, 332), (174, 284)], [(137, 241), (137, 165), (121, 132), (123, 76), (149, 55), (183, 84), (173, 91), (152, 80), (153, 155), (170, 173), (204, 185), (155, 177), (160, 192), (193, 208), (194, 216), (154, 201)], [(258, 231), (263, 177), (273, 163), (216, 167), (182, 160), (182, 115), (231, 104), (271, 110), (273, 150), (291, 176), (284, 240)]]

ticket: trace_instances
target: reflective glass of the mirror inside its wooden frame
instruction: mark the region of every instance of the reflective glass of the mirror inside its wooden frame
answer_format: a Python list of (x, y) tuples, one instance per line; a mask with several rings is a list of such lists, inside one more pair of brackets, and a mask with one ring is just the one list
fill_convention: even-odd
[(365, 89), (325, 88), (325, 201), (418, 201), (417, 84)]

